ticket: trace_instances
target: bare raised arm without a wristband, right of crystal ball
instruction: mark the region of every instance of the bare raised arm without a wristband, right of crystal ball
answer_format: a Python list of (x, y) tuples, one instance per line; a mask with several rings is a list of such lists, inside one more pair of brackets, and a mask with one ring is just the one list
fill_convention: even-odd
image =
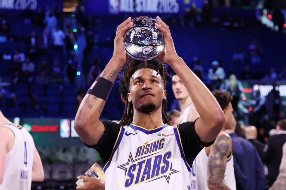
[(165, 36), (165, 49), (158, 56), (169, 64), (186, 87), (200, 117), (195, 122), (195, 130), (203, 143), (214, 141), (225, 123), (225, 116), (217, 100), (204, 83), (189, 69), (177, 55), (168, 25), (157, 17), (160, 25), (156, 27)]

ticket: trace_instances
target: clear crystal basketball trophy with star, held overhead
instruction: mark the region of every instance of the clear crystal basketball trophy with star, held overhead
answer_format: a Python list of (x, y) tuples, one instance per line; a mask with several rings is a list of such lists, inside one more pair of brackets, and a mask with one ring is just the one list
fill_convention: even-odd
[(158, 56), (165, 47), (165, 37), (155, 27), (155, 23), (160, 23), (149, 16), (138, 16), (131, 22), (133, 26), (124, 34), (127, 54), (142, 61)]

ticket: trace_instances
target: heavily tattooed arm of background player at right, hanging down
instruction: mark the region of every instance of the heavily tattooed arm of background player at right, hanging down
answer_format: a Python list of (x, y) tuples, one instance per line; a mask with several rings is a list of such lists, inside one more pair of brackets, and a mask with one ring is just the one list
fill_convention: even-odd
[(226, 171), (226, 162), (231, 154), (232, 141), (228, 134), (220, 132), (214, 144), (210, 147), (208, 156), (208, 188), (213, 189), (230, 189), (224, 183)]

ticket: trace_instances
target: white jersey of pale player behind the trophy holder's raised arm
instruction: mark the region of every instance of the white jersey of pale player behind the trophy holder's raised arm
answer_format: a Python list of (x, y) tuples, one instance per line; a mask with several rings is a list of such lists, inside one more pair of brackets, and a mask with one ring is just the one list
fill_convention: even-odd
[[(188, 107), (186, 107), (184, 109), (184, 111), (180, 114), (180, 123), (184, 123), (187, 122), (188, 120), (188, 116), (189, 113), (191, 111), (191, 108), (194, 106), (193, 103), (191, 103), (190, 105), (188, 105)], [(197, 176), (196, 176), (196, 159), (194, 159), (193, 165), (192, 165), (192, 175), (191, 175), (191, 185), (190, 185), (190, 189), (198, 189), (197, 188)]]

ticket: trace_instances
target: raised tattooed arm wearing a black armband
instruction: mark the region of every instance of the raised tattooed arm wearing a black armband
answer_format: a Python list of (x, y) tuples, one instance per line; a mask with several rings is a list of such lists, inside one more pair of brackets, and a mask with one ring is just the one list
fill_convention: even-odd
[(113, 82), (126, 62), (123, 35), (132, 23), (131, 17), (122, 22), (116, 31), (113, 56), (109, 63), (88, 89), (75, 116), (74, 128), (81, 140), (88, 145), (96, 145), (104, 132), (103, 123), (99, 120)]

